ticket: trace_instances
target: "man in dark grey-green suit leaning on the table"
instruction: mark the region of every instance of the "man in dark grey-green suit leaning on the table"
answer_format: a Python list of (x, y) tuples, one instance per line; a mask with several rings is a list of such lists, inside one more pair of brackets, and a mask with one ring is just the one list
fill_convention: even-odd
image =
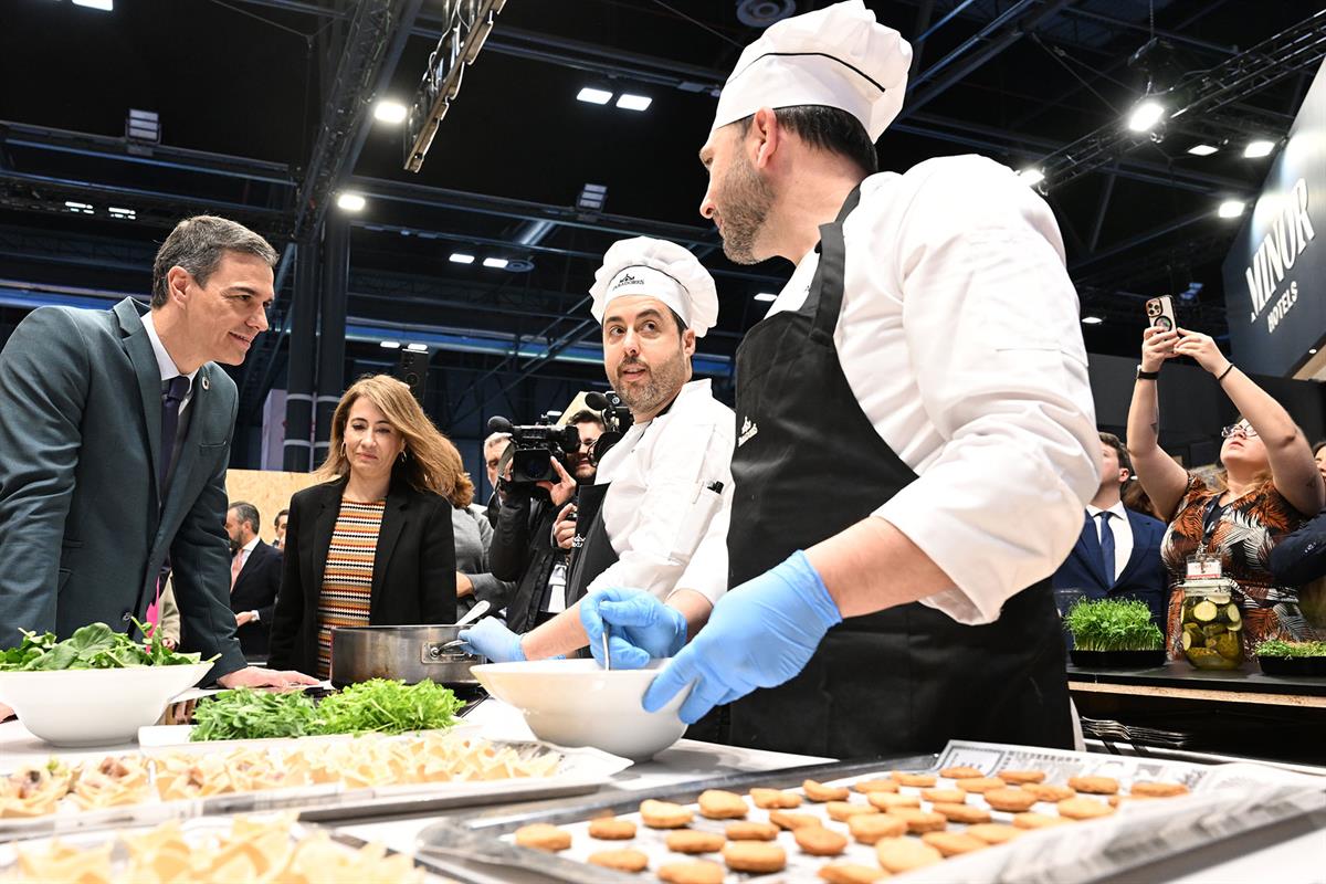
[[(180, 221), (147, 310), (41, 307), (0, 351), (0, 648), (130, 631), (168, 566), (184, 649), (225, 687), (309, 683), (247, 667), (228, 603), (225, 468), (240, 364), (267, 330), (277, 256), (220, 217)], [(0, 712), (8, 712), (0, 709)]]

